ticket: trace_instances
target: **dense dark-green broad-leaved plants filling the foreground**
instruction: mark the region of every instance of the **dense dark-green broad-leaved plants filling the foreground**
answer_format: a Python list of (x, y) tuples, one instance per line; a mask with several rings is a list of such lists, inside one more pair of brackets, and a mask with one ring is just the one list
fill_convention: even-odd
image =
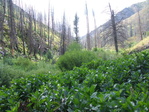
[(149, 53), (97, 60), (1, 87), (1, 112), (149, 111)]

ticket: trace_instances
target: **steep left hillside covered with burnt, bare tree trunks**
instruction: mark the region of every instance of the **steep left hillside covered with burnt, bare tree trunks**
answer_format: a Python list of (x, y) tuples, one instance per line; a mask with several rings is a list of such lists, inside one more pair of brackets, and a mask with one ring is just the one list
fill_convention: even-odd
[(57, 51), (60, 47), (61, 34), (46, 25), (45, 18), (33, 8), (22, 9), (12, 0), (1, 0), (1, 54), (36, 57), (36, 54), (42, 56), (49, 50)]

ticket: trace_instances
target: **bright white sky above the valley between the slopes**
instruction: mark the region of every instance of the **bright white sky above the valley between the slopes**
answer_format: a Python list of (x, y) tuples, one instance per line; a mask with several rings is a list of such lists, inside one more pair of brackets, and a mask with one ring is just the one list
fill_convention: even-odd
[[(15, 0), (14, 0), (15, 1)], [(122, 9), (131, 6), (134, 3), (142, 2), (145, 0), (20, 0), (27, 6), (33, 6), (39, 12), (47, 12), (50, 4), (51, 8), (54, 8), (55, 20), (61, 21), (63, 13), (65, 12), (66, 20), (72, 27), (75, 14), (79, 17), (79, 35), (83, 36), (87, 32), (86, 28), (86, 16), (85, 16), (85, 3), (88, 5), (90, 31), (94, 27), (94, 20), (92, 16), (92, 10), (95, 12), (96, 24), (100, 26), (109, 20), (108, 4), (111, 4), (112, 9), (115, 12), (119, 12)], [(50, 2), (50, 3), (49, 3)]]

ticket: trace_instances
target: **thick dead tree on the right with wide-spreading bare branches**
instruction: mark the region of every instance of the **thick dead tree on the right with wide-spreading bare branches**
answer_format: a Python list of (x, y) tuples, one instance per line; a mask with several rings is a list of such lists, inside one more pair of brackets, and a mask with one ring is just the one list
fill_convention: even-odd
[[(111, 13), (111, 12), (110, 12)], [(119, 15), (121, 18), (119, 18)], [(117, 47), (119, 47), (121, 45), (121, 47), (124, 47), (124, 42), (125, 40), (128, 39), (128, 30), (127, 30), (127, 23), (125, 21), (123, 21), (123, 16), (121, 15), (125, 15), (125, 13), (119, 13), (116, 14), (116, 16), (111, 16), (111, 19), (103, 26), (103, 29), (100, 31), (100, 37), (102, 39), (101, 41), (101, 47), (104, 47), (106, 44), (113, 46), (115, 45), (115, 40), (117, 42)], [(113, 17), (114, 17), (114, 21), (113, 21)], [(113, 21), (113, 24), (112, 24)], [(115, 26), (115, 28), (114, 28)], [(116, 33), (115, 33), (116, 32)], [(116, 37), (118, 38), (114, 38), (116, 34)], [(119, 43), (119, 46), (118, 46)]]

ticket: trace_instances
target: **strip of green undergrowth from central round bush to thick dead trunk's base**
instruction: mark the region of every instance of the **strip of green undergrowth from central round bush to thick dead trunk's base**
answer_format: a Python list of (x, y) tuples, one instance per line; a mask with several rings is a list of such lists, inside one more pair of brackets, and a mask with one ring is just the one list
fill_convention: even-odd
[(78, 50), (77, 48), (77, 50), (68, 50), (64, 55), (60, 56), (56, 64), (62, 71), (67, 71), (93, 60), (114, 60), (119, 57), (122, 57), (122, 55), (110, 50), (93, 49), (92, 51), (87, 51)]

